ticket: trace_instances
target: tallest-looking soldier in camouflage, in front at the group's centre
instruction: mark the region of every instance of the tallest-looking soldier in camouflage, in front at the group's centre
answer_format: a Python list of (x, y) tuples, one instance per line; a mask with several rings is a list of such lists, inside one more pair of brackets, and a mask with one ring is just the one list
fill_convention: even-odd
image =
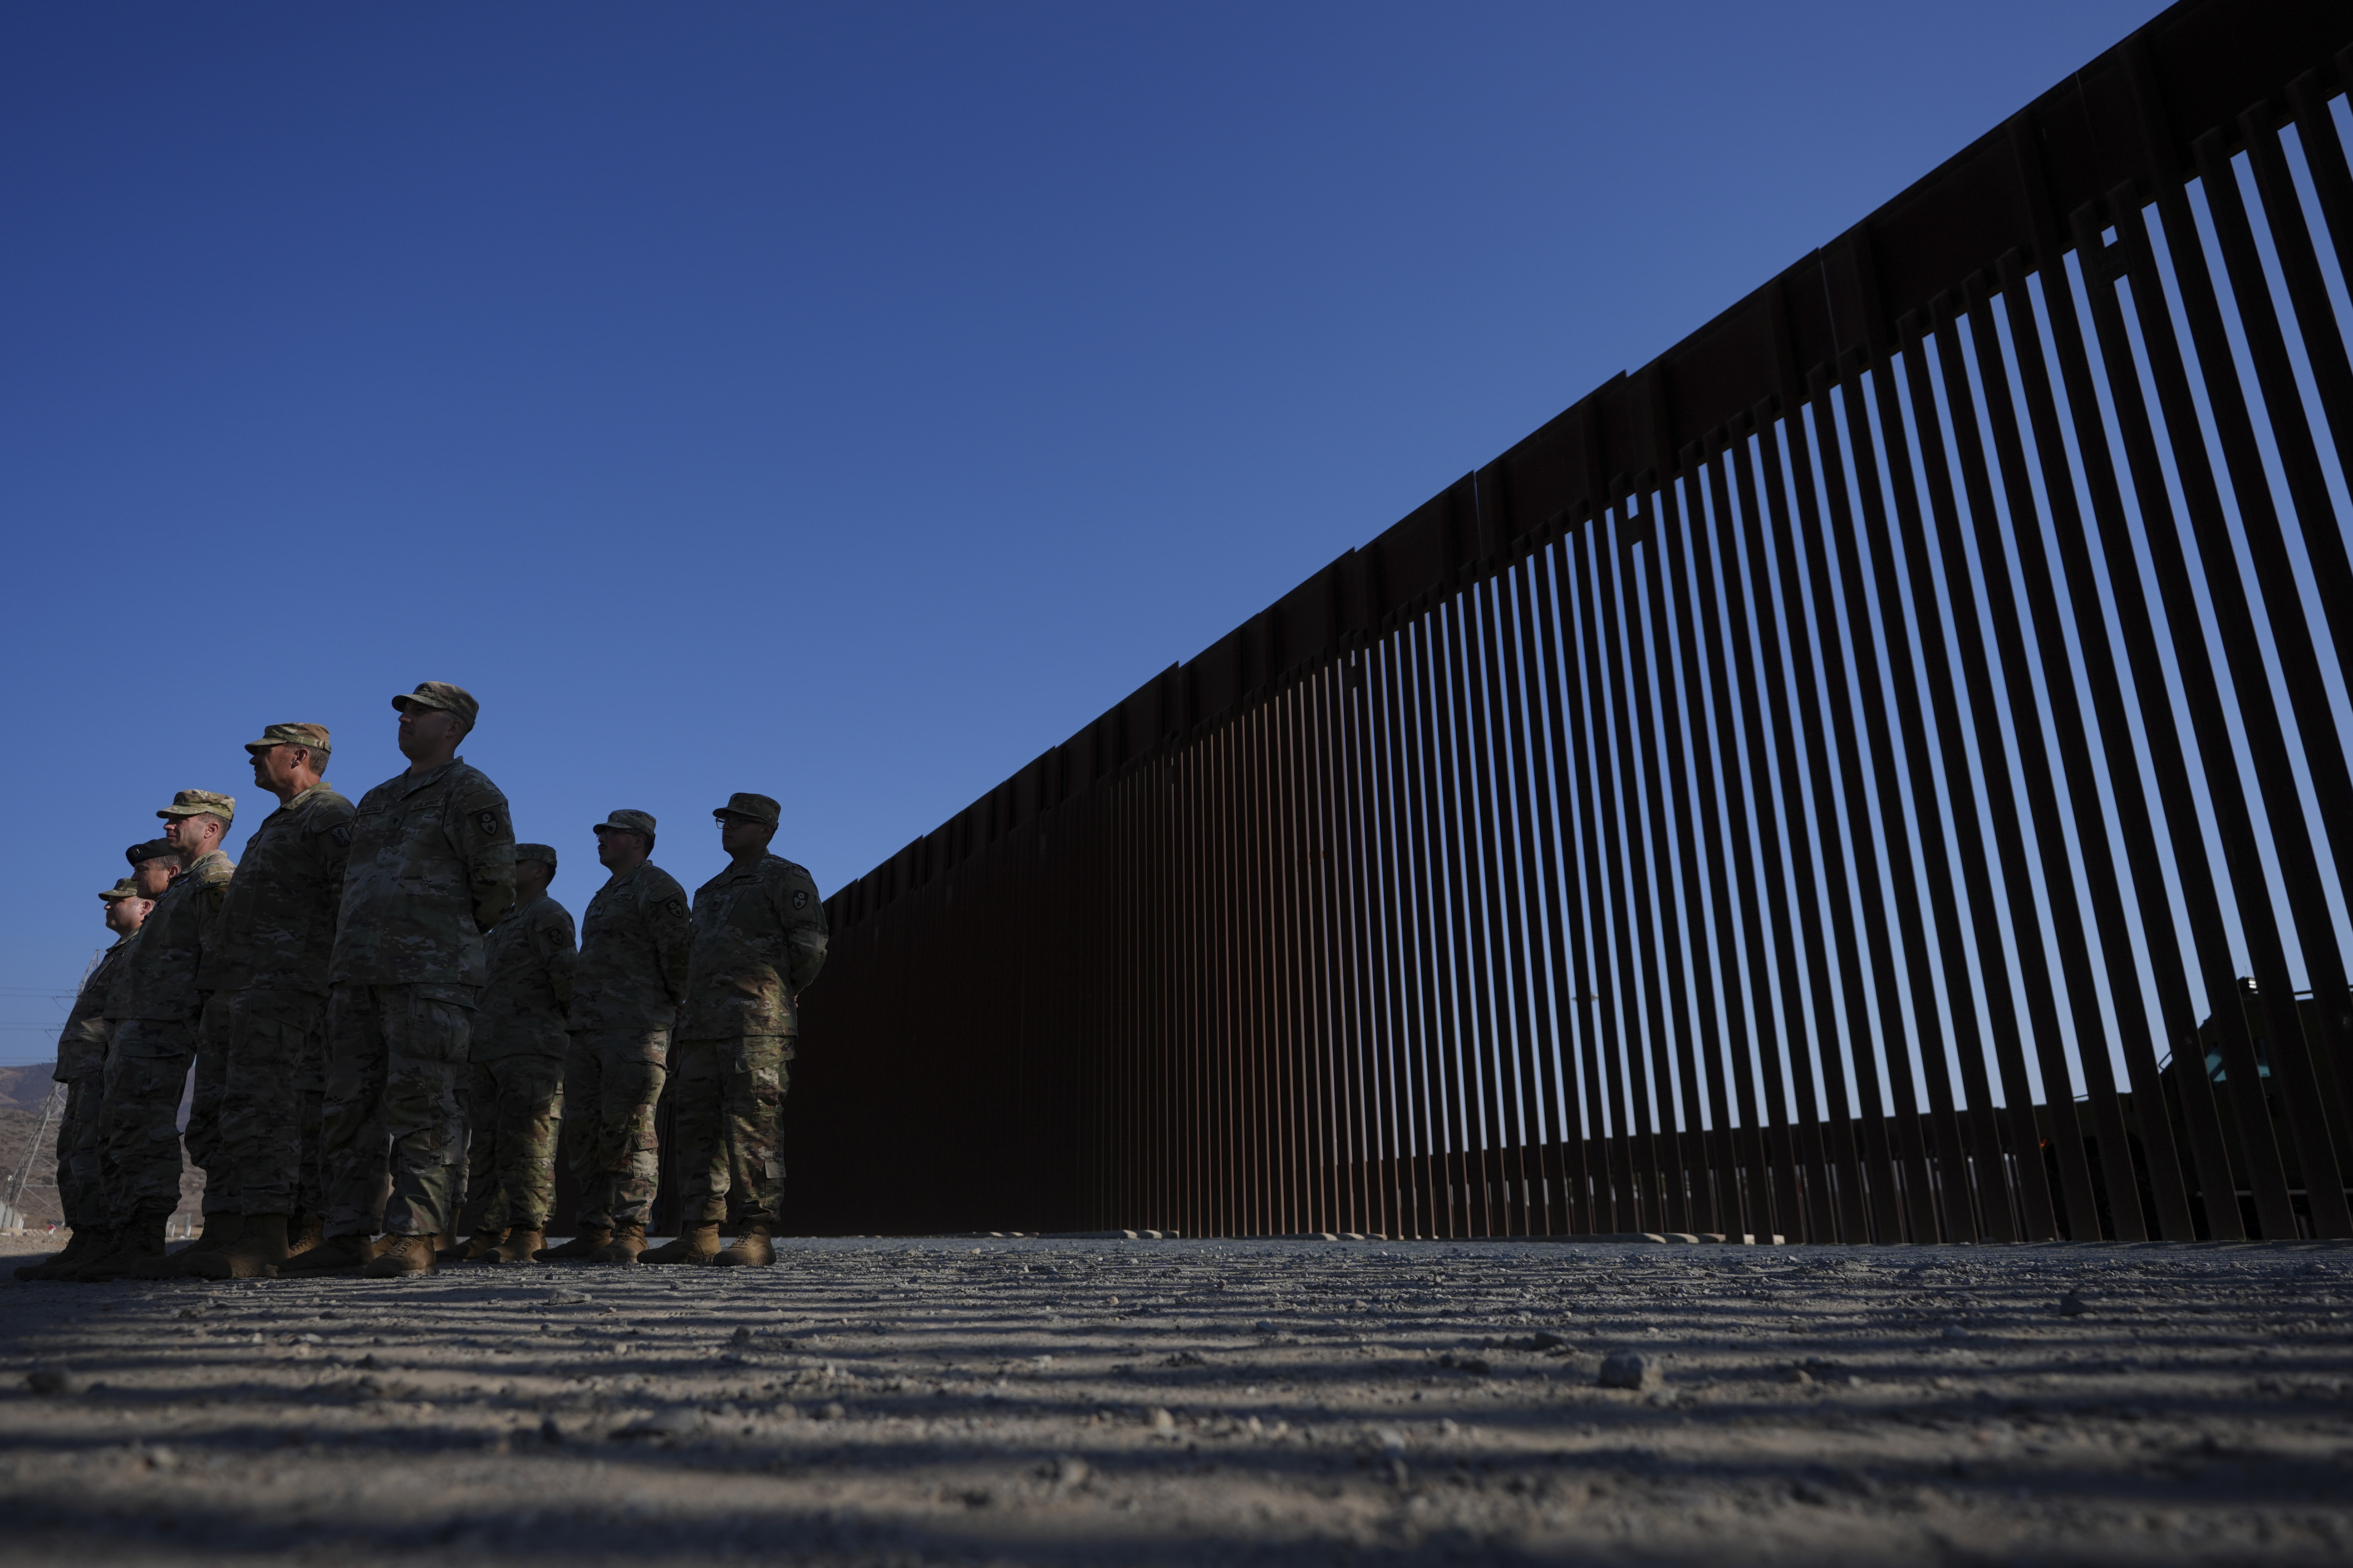
[[(456, 755), (480, 712), (473, 696), (424, 682), (393, 708), (409, 769), (360, 797), (327, 969), (327, 1239), (280, 1274), (431, 1274), (433, 1241), (456, 1218), (456, 1095), (482, 933), (515, 903), (515, 832), (499, 785)], [(379, 1211), (386, 1147), (393, 1192)], [(388, 1237), (369, 1258), (376, 1229)]]

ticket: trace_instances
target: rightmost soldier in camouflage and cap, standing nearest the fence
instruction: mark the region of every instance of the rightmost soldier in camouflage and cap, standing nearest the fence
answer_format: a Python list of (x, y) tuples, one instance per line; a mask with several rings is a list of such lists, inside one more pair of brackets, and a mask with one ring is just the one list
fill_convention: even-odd
[[(816, 882), (767, 853), (781, 806), (732, 795), (711, 816), (729, 865), (694, 891), (694, 964), (678, 1030), (678, 1239), (645, 1262), (774, 1262), (784, 1206), (786, 1063), (800, 1032), (795, 997), (826, 964)], [(739, 1225), (720, 1251), (720, 1220)]]

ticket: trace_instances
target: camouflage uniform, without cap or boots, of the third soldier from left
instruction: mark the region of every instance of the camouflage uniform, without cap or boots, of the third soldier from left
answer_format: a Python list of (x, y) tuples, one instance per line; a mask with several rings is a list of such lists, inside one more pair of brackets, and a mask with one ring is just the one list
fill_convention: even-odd
[(108, 985), (106, 1016), (118, 1020), (106, 1056), (101, 1152), (108, 1225), (179, 1208), (179, 1093), (205, 1013), (198, 973), (235, 870), (214, 849), (181, 872), (155, 900)]

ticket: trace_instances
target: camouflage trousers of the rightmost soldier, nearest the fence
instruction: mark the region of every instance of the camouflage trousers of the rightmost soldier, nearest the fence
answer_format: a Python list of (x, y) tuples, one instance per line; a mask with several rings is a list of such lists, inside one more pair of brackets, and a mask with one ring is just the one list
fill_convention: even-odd
[(680, 1225), (776, 1222), (791, 1060), (791, 1034), (678, 1041)]

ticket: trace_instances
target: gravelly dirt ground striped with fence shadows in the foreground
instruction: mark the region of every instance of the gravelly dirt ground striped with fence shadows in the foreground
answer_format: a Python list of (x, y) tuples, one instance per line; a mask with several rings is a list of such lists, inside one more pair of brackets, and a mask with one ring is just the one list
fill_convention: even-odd
[[(0, 1279), (12, 1563), (2353, 1549), (2346, 1246), (852, 1239)], [(1598, 1387), (1626, 1349), (1657, 1387)]]

